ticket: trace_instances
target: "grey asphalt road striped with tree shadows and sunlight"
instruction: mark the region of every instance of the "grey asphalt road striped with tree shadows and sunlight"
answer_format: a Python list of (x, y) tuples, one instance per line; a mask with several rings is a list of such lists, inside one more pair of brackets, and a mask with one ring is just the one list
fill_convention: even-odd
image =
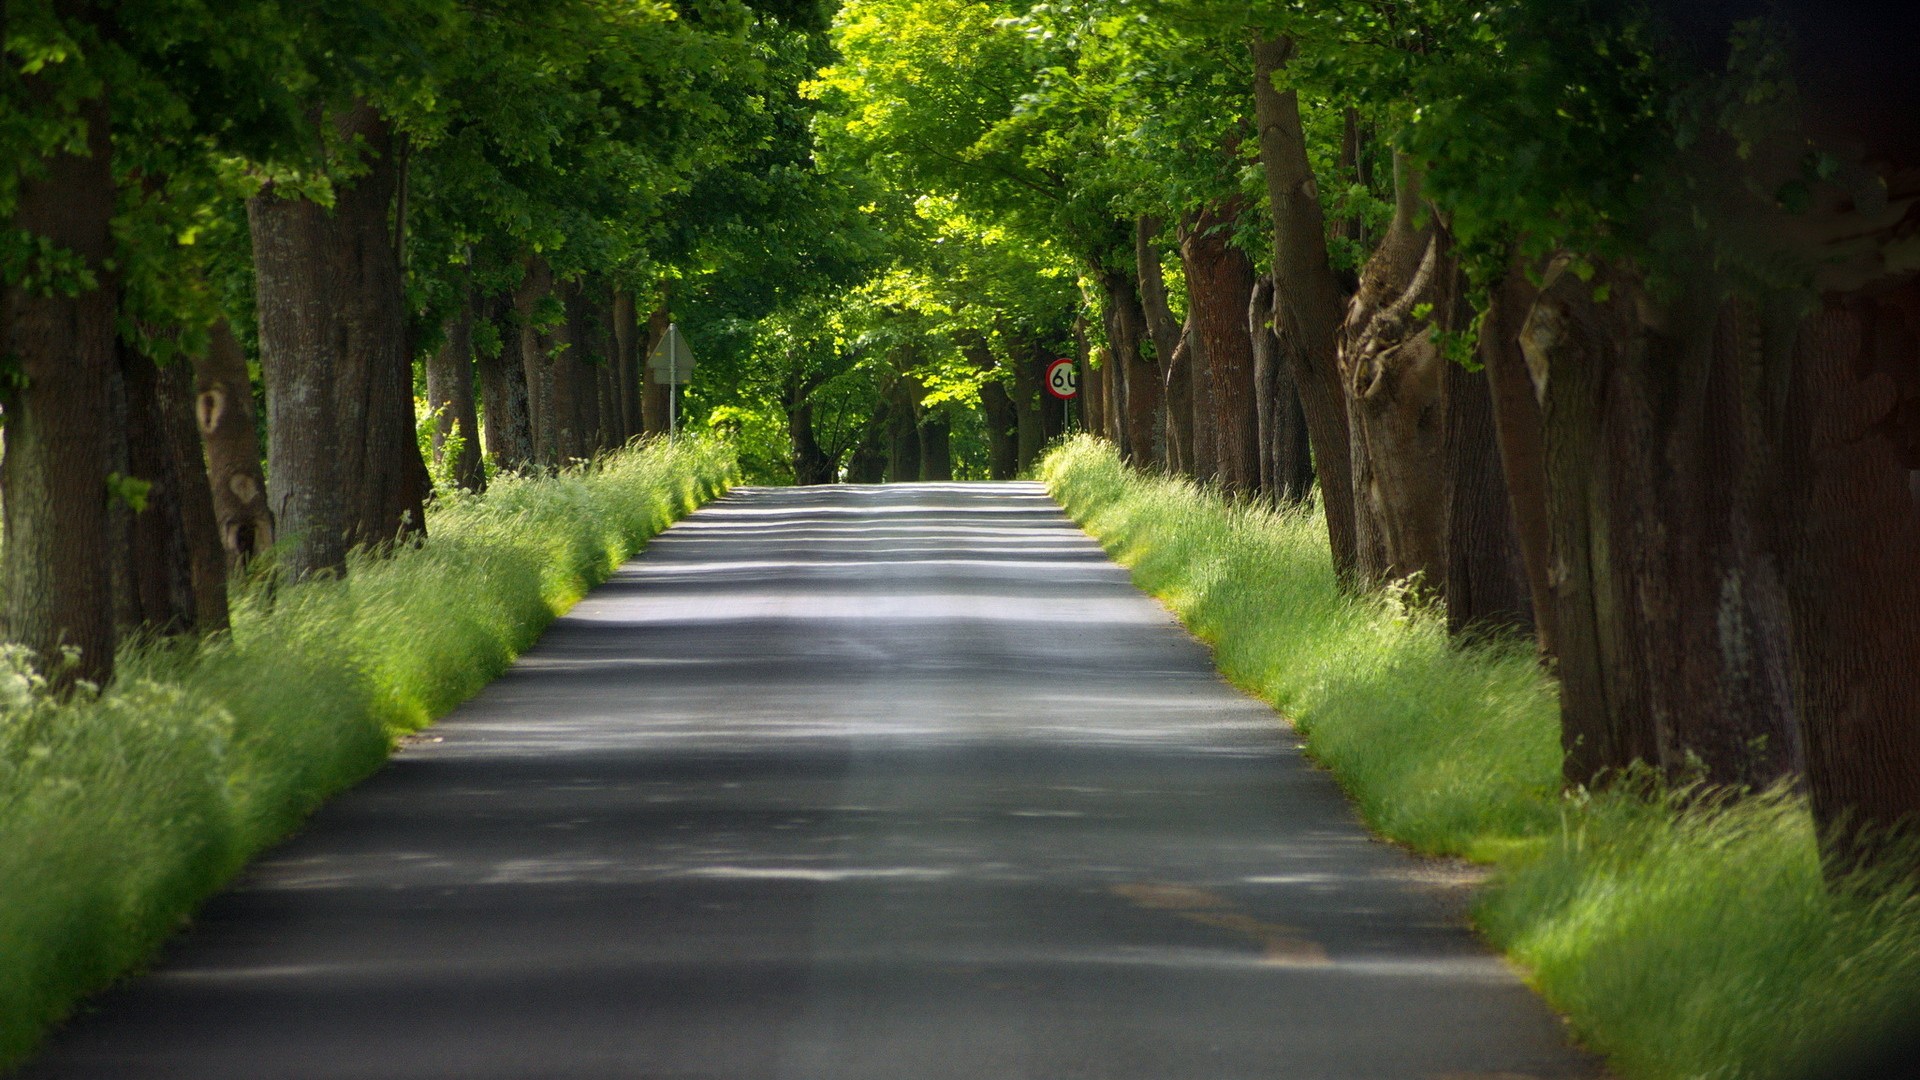
[(1039, 486), (741, 490), (27, 1076), (1597, 1074), (1444, 878)]

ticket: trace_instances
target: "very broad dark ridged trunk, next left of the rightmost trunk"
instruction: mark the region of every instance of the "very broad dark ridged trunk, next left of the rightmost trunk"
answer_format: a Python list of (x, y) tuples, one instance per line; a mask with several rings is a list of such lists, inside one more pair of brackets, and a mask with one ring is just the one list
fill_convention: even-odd
[(1670, 304), (1548, 273), (1521, 344), (1542, 398), (1567, 778), (1647, 761), (1764, 786), (1799, 763), (1751, 315), (1705, 273)]

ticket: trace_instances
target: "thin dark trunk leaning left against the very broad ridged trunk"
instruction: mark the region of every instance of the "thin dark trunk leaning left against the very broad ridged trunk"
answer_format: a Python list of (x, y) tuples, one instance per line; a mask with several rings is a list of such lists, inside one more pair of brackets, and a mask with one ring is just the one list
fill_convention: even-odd
[(1540, 655), (1557, 653), (1553, 634), (1553, 586), (1549, 584), (1548, 465), (1540, 429), (1540, 398), (1521, 352), (1521, 323), (1534, 304), (1536, 288), (1526, 269), (1515, 263), (1492, 294), (1480, 321), (1480, 365), (1486, 369), (1494, 405), (1494, 434), (1500, 440), (1501, 479), (1513, 509), (1515, 542), (1526, 571), (1526, 592), (1534, 615)]

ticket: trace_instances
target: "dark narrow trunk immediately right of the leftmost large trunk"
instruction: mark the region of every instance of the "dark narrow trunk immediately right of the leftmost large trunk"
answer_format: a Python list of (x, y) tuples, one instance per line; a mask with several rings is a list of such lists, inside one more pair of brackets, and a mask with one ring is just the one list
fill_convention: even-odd
[[(159, 407), (159, 369), (127, 342), (115, 352), (113, 473), (123, 477), (123, 492), (109, 500), (108, 511), (115, 630), (121, 638), (192, 634), (200, 611), (182, 521), (186, 484)], [(131, 482), (144, 484), (144, 492), (125, 490)]]

